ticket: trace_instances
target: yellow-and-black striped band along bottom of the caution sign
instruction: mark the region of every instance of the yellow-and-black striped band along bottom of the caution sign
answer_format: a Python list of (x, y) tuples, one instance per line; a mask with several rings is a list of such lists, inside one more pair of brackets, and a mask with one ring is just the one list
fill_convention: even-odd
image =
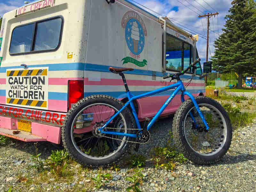
[(6, 103), (24, 105), (24, 106), (33, 106), (33, 107), (45, 107), (45, 108), (47, 107), (47, 101), (39, 101), (39, 100), (6, 98)]

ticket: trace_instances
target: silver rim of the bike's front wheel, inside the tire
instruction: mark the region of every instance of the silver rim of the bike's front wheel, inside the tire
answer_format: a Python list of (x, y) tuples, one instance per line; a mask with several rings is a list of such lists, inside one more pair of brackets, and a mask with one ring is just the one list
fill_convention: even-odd
[(206, 122), (209, 125), (208, 132), (204, 131), (205, 125), (200, 116), (194, 117), (199, 128), (193, 126), (193, 120), (189, 112), (185, 116), (183, 123), (183, 134), (191, 149), (203, 156), (212, 156), (218, 153), (227, 140), (227, 124), (224, 116), (214, 106), (201, 103), (198, 104)]

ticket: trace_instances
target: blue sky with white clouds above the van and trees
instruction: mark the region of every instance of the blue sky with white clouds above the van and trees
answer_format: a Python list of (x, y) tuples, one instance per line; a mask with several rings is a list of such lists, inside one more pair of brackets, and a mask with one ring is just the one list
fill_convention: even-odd
[[(224, 17), (228, 14), (228, 10), (231, 7), (231, 2), (233, 0), (135, 0), (135, 2), (132, 0), (129, 1), (131, 1), (134, 4), (136, 4), (135, 2), (138, 2), (148, 7), (150, 10), (147, 10), (145, 7), (143, 7), (143, 9), (146, 9), (148, 12), (151, 12), (156, 16), (160, 15), (157, 15), (155, 12), (172, 18), (170, 20), (172, 20), (172, 22), (178, 27), (184, 29), (186, 29), (185, 27), (187, 27), (188, 31), (199, 34), (200, 36), (204, 37), (206, 37), (207, 33), (207, 19), (199, 19), (199, 14), (203, 15), (208, 12), (219, 12), (218, 17), (216, 16), (215, 18), (213, 17), (210, 19), (210, 50), (208, 54), (208, 58), (210, 59), (211, 55), (214, 55), (214, 40), (218, 38), (219, 34), (222, 33), (221, 28), (223, 28), (223, 25), (225, 24)], [(3, 16), (5, 12), (14, 10), (17, 7), (22, 6), (23, 3), (24, 0), (1, 0), (0, 16)], [(137, 5), (141, 6), (139, 4)], [(152, 12), (151, 10), (154, 12)], [(199, 53), (199, 57), (204, 62), (206, 57), (206, 39), (199, 37), (199, 42), (197, 42), (197, 50)]]

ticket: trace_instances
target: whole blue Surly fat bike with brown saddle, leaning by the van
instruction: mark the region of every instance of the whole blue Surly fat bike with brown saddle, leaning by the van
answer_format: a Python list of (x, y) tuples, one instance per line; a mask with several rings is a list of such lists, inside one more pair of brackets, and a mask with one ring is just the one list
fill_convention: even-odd
[[(124, 71), (132, 68), (112, 68), (124, 82), (128, 101), (121, 101), (108, 95), (92, 95), (78, 101), (69, 111), (62, 127), (64, 147), (73, 158), (87, 166), (111, 164), (125, 154), (135, 144), (136, 151), (140, 144), (150, 140), (150, 128), (168, 106), (171, 100), (181, 92), (182, 104), (173, 118), (172, 132), (178, 150), (196, 164), (212, 164), (224, 156), (230, 146), (232, 129), (225, 109), (215, 100), (186, 92), (180, 76), (192, 68), (190, 82), (195, 76), (196, 63), (184, 71), (164, 76), (177, 80), (177, 83), (160, 89), (133, 96), (129, 91)], [(203, 76), (201, 76), (203, 77)], [(189, 83), (190, 83), (189, 82)], [(164, 102), (147, 126), (141, 127), (135, 100), (175, 89)], [(184, 96), (189, 97), (188, 100)]]

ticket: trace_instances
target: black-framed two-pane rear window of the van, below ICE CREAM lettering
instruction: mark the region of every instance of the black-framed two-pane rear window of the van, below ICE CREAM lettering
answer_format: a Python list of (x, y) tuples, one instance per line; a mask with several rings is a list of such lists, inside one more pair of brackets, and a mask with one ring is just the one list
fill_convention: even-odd
[(14, 28), (10, 54), (57, 50), (61, 40), (62, 23), (62, 19), (57, 17)]

